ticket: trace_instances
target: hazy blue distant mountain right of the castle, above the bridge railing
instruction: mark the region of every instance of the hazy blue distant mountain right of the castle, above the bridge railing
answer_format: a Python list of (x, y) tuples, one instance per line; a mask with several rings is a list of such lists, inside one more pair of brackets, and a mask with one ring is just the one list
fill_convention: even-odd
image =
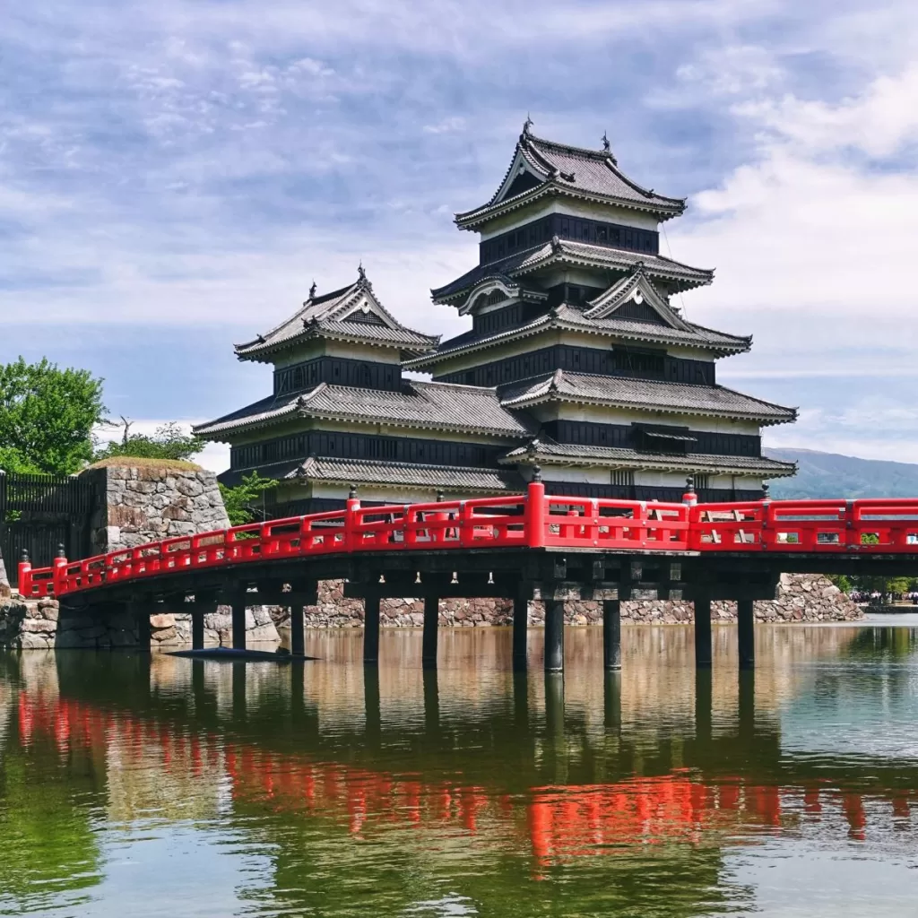
[(815, 450), (767, 447), (765, 453), (798, 465), (793, 478), (769, 482), (773, 498), (918, 497), (918, 465)]

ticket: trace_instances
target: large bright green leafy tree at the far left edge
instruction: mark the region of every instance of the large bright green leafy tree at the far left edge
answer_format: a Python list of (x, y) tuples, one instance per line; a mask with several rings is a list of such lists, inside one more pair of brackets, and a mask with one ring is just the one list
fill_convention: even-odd
[(0, 364), (0, 468), (71, 475), (93, 454), (102, 380), (43, 359)]

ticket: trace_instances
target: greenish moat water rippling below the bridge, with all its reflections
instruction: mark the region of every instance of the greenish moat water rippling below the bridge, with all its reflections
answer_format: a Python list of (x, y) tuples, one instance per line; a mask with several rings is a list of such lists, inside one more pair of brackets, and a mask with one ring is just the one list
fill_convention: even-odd
[(306, 665), (0, 656), (0, 914), (914, 915), (918, 630), (308, 634)]

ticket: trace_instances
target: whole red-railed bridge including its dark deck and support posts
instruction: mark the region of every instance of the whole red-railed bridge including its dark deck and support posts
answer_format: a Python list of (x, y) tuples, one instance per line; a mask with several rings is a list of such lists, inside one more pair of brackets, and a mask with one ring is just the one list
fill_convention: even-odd
[[(691, 498), (687, 495), (687, 498)], [(425, 662), (436, 658), (439, 599), (514, 599), (514, 655), (525, 659), (529, 599), (545, 600), (549, 670), (563, 668), (565, 599), (604, 606), (606, 662), (620, 665), (619, 603), (635, 591), (695, 603), (696, 660), (711, 662), (711, 599), (739, 606), (741, 664), (754, 658), (755, 599), (773, 599), (784, 571), (918, 573), (918, 499), (659, 503), (550, 497), (532, 482), (517, 497), (362, 507), (252, 523), (32, 569), (19, 590), (68, 609), (128, 603), (140, 621), (156, 604), (203, 615), (233, 609), (233, 644), (245, 646), (247, 605), (315, 602), (319, 579), (343, 579), (364, 599), (364, 660), (378, 654), (379, 600), (425, 599)], [(302, 614), (293, 616), (302, 654)]]

